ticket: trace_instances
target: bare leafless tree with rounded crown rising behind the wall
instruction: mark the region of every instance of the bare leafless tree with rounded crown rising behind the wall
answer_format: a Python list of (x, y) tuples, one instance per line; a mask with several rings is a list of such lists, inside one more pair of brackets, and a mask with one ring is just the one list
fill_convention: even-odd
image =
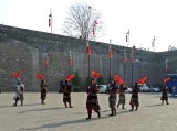
[(93, 40), (101, 34), (101, 13), (87, 4), (73, 4), (64, 21), (64, 33), (69, 36)]

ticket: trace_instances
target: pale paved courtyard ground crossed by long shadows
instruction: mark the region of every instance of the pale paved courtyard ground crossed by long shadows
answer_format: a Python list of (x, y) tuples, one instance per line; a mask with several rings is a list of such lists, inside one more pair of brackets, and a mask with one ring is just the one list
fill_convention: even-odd
[(110, 117), (107, 97), (98, 95), (102, 117), (85, 109), (86, 94), (73, 92), (74, 108), (64, 108), (62, 94), (48, 94), (46, 105), (40, 103), (40, 94), (25, 94), (24, 106), (13, 107), (14, 94), (0, 94), (0, 131), (177, 131), (177, 98), (169, 98), (169, 106), (160, 105), (160, 94), (140, 94), (138, 111), (129, 112), (129, 94), (126, 109), (117, 109)]

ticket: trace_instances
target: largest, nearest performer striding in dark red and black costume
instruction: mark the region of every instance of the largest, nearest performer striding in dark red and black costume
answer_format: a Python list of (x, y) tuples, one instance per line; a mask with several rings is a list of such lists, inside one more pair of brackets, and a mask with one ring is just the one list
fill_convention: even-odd
[(98, 118), (101, 117), (101, 112), (100, 112), (101, 108), (98, 105), (97, 91), (98, 91), (98, 87), (95, 84), (95, 79), (92, 78), (91, 85), (87, 88), (86, 109), (87, 109), (88, 117), (86, 119), (91, 119), (92, 110), (97, 112)]

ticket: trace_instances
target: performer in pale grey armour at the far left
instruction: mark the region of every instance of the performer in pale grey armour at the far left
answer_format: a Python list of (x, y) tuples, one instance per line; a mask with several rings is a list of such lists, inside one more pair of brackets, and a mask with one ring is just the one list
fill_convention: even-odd
[(14, 96), (14, 100), (15, 102), (13, 103), (13, 106), (18, 105), (18, 101), (21, 101), (21, 106), (23, 106), (23, 100), (24, 100), (24, 85), (21, 83), (20, 79), (18, 79), (18, 84), (15, 86), (15, 96)]

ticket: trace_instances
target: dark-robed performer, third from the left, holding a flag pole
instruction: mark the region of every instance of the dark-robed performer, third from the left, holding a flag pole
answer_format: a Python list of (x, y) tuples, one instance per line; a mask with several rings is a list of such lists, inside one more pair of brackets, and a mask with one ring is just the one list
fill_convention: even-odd
[(65, 80), (65, 85), (63, 84), (62, 88), (63, 88), (63, 102), (65, 105), (65, 108), (67, 108), (66, 102), (69, 102), (70, 108), (73, 108), (71, 106), (71, 91), (72, 91), (72, 89), (71, 89), (71, 85), (69, 84), (67, 80)]

